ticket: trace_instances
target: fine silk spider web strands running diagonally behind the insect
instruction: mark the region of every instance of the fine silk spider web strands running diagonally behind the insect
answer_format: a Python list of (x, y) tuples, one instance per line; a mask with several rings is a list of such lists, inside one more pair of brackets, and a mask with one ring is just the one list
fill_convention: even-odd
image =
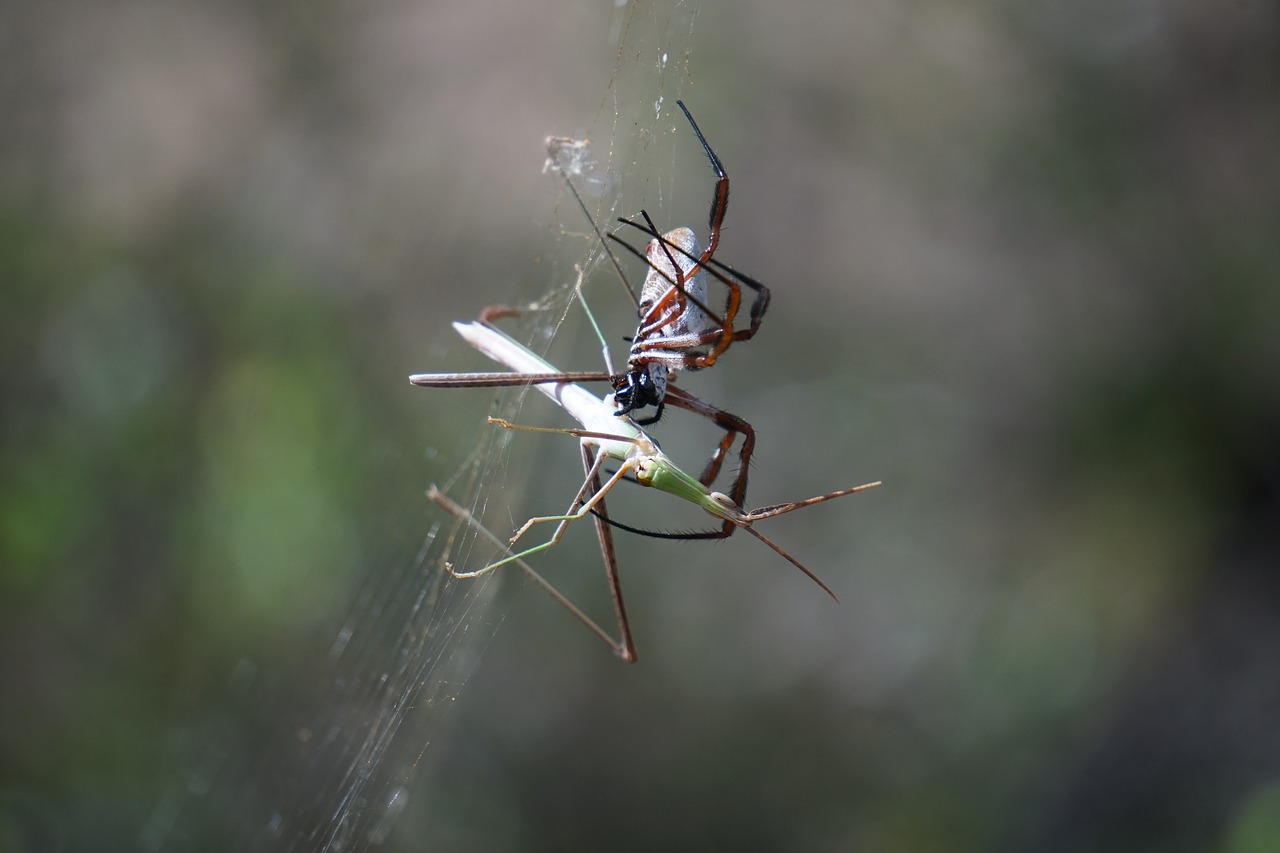
[[(521, 302), (495, 287), (476, 302), (476, 309), (521, 302), (526, 310), (508, 329), (538, 351), (545, 351), (564, 324), (586, 325), (573, 307), (577, 270), (594, 288), (593, 305), (622, 305), (634, 321), (634, 307), (608, 283), (616, 275), (607, 268), (596, 228), (607, 229), (617, 216), (645, 206), (662, 210), (671, 196), (676, 140), (684, 128), (676, 100), (690, 79), (696, 13), (696, 4), (677, 0), (620, 3), (611, 32), (599, 33), (616, 47), (614, 65), (593, 124), (558, 149), (557, 165), (577, 196), (559, 177), (548, 179), (559, 186), (559, 196), (548, 196), (556, 206), (548, 247), (530, 284), (536, 292)], [(548, 126), (556, 124), (556, 117), (548, 117)], [(454, 318), (440, 318), (442, 329), (448, 319)], [(449, 351), (466, 346), (457, 342)], [(412, 364), (404, 373), (452, 366)], [(492, 414), (515, 419), (526, 396), (527, 389), (500, 394)], [(521, 444), (499, 429), (477, 429), (476, 435), (465, 462), (439, 485), (506, 535), (515, 517), (513, 496), (535, 471), (527, 450), (532, 443)], [(445, 562), (479, 566), (495, 552), (474, 528), (433, 506), (428, 512), (425, 535), (419, 526), (411, 535), (420, 540), (403, 543), (406, 557), (364, 573), (347, 619), (328, 637), (319, 684), (278, 688), (297, 690), (288, 698), (244, 686), (246, 716), (284, 720), (274, 736), (243, 744), (228, 722), (225, 730), (192, 738), (210, 745), (192, 760), (183, 785), (155, 809), (143, 831), (145, 848), (229, 838), (237, 849), (369, 849), (387, 843), (398, 818), (430, 795), (420, 771), (448, 740), (454, 701), (503, 620), (494, 601), (503, 573), (452, 578)], [(421, 515), (415, 508), (407, 517)], [(582, 642), (593, 642), (585, 631)], [(232, 681), (233, 690), (237, 681), (252, 685), (255, 665), (246, 663)], [(289, 710), (282, 713), (283, 702)]]

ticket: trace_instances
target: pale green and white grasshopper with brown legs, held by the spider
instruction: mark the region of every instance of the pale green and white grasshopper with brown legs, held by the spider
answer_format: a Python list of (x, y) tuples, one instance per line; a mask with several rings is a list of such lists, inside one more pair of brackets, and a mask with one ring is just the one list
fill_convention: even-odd
[[(828, 596), (836, 598), (836, 594), (831, 590), (831, 588), (822, 583), (817, 575), (809, 571), (809, 569), (787, 553), (781, 546), (756, 530), (754, 524), (756, 521), (763, 521), (764, 519), (772, 519), (806, 506), (813, 506), (814, 503), (822, 503), (846, 494), (861, 492), (874, 485), (879, 485), (878, 482), (841, 489), (838, 492), (831, 492), (828, 494), (820, 494), (805, 501), (791, 501), (758, 510), (746, 510), (742, 507), (741, 502), (733, 500), (731, 496), (721, 492), (713, 492), (700, 479), (681, 470), (671, 460), (671, 457), (662, 452), (657, 442), (654, 442), (653, 438), (644, 432), (644, 429), (635, 424), (635, 421), (625, 415), (620, 418), (609, 398), (600, 400), (567, 378), (572, 374), (564, 374), (556, 370), (553, 365), (485, 323), (454, 323), (453, 328), (474, 347), (484, 352), (490, 359), (504, 364), (511, 370), (531, 377), (559, 377), (559, 379), (556, 380), (540, 380), (536, 383), (536, 387), (544, 394), (563, 406), (564, 410), (581, 424), (581, 429), (544, 429), (521, 426), (498, 418), (490, 418), (489, 423), (507, 429), (564, 433), (576, 437), (581, 446), (582, 466), (586, 471), (586, 478), (582, 482), (582, 487), (573, 497), (573, 501), (570, 503), (568, 510), (566, 510), (563, 515), (534, 517), (516, 530), (515, 535), (512, 535), (507, 543), (506, 556), (471, 571), (460, 571), (452, 565), (448, 565), (451, 574), (457, 578), (477, 578), (509, 564), (517, 564), (526, 571), (532, 573), (532, 570), (525, 564), (526, 557), (554, 547), (564, 535), (564, 532), (571, 523), (591, 515), (595, 521), (596, 537), (600, 542), (600, 553), (604, 558), (609, 590), (613, 597), (614, 615), (618, 624), (618, 637), (611, 637), (607, 631), (588, 619), (577, 607), (570, 603), (562, 594), (554, 592), (553, 588), (549, 589), (549, 592), (552, 592), (561, 605), (573, 612), (575, 616), (581, 619), (588, 625), (588, 628), (607, 642), (613, 648), (614, 653), (625, 661), (635, 661), (636, 647), (631, 637), (630, 622), (627, 621), (626, 605), (622, 599), (622, 588), (618, 580), (617, 552), (613, 547), (613, 532), (609, 526), (608, 510), (605, 507), (605, 496), (609, 491), (622, 482), (623, 478), (630, 476), (641, 485), (667, 492), (694, 503), (727, 525), (728, 533), (732, 533), (736, 529), (746, 530), (774, 552), (781, 555), (792, 566), (803, 571), (810, 580), (822, 587)], [(447, 380), (452, 375), (456, 374), (419, 374), (410, 377), (410, 382), (417, 386), (449, 387)], [(603, 479), (604, 466), (609, 462), (617, 464), (617, 470), (609, 474), (608, 479)], [(434, 487), (428, 496), (458, 519), (480, 528), (479, 523), (470, 515), (470, 512), (447, 498)], [(548, 540), (521, 551), (513, 551), (516, 543), (530, 529), (539, 524), (549, 523), (554, 523), (556, 529)], [(484, 530), (483, 528), (480, 529)], [(486, 530), (484, 530), (484, 533), (492, 542), (498, 542), (493, 534)], [(728, 533), (724, 535), (728, 535)], [(544, 588), (549, 588), (549, 584), (539, 575), (534, 573), (534, 576)]]

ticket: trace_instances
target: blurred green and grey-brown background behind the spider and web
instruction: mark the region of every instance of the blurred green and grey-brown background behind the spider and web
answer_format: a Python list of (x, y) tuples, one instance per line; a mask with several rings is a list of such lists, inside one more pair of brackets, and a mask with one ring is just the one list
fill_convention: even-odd
[[(358, 798), (315, 744), (393, 717), (334, 849), (1280, 849), (1276, 8), (630, 14), (0, 12), (0, 849), (316, 849)], [(755, 425), (755, 505), (884, 482), (769, 523), (842, 603), (620, 534), (636, 665), (511, 576), (357, 701), (439, 624), (424, 489), (488, 452), (492, 392), (406, 375), (571, 278), (548, 133), (664, 133), (643, 204), (701, 228), (675, 96), (774, 296), (682, 383)], [(694, 470), (701, 429), (655, 428)], [(564, 506), (572, 442), (503, 441), (507, 521)], [(577, 534), (539, 566), (607, 615)]]

